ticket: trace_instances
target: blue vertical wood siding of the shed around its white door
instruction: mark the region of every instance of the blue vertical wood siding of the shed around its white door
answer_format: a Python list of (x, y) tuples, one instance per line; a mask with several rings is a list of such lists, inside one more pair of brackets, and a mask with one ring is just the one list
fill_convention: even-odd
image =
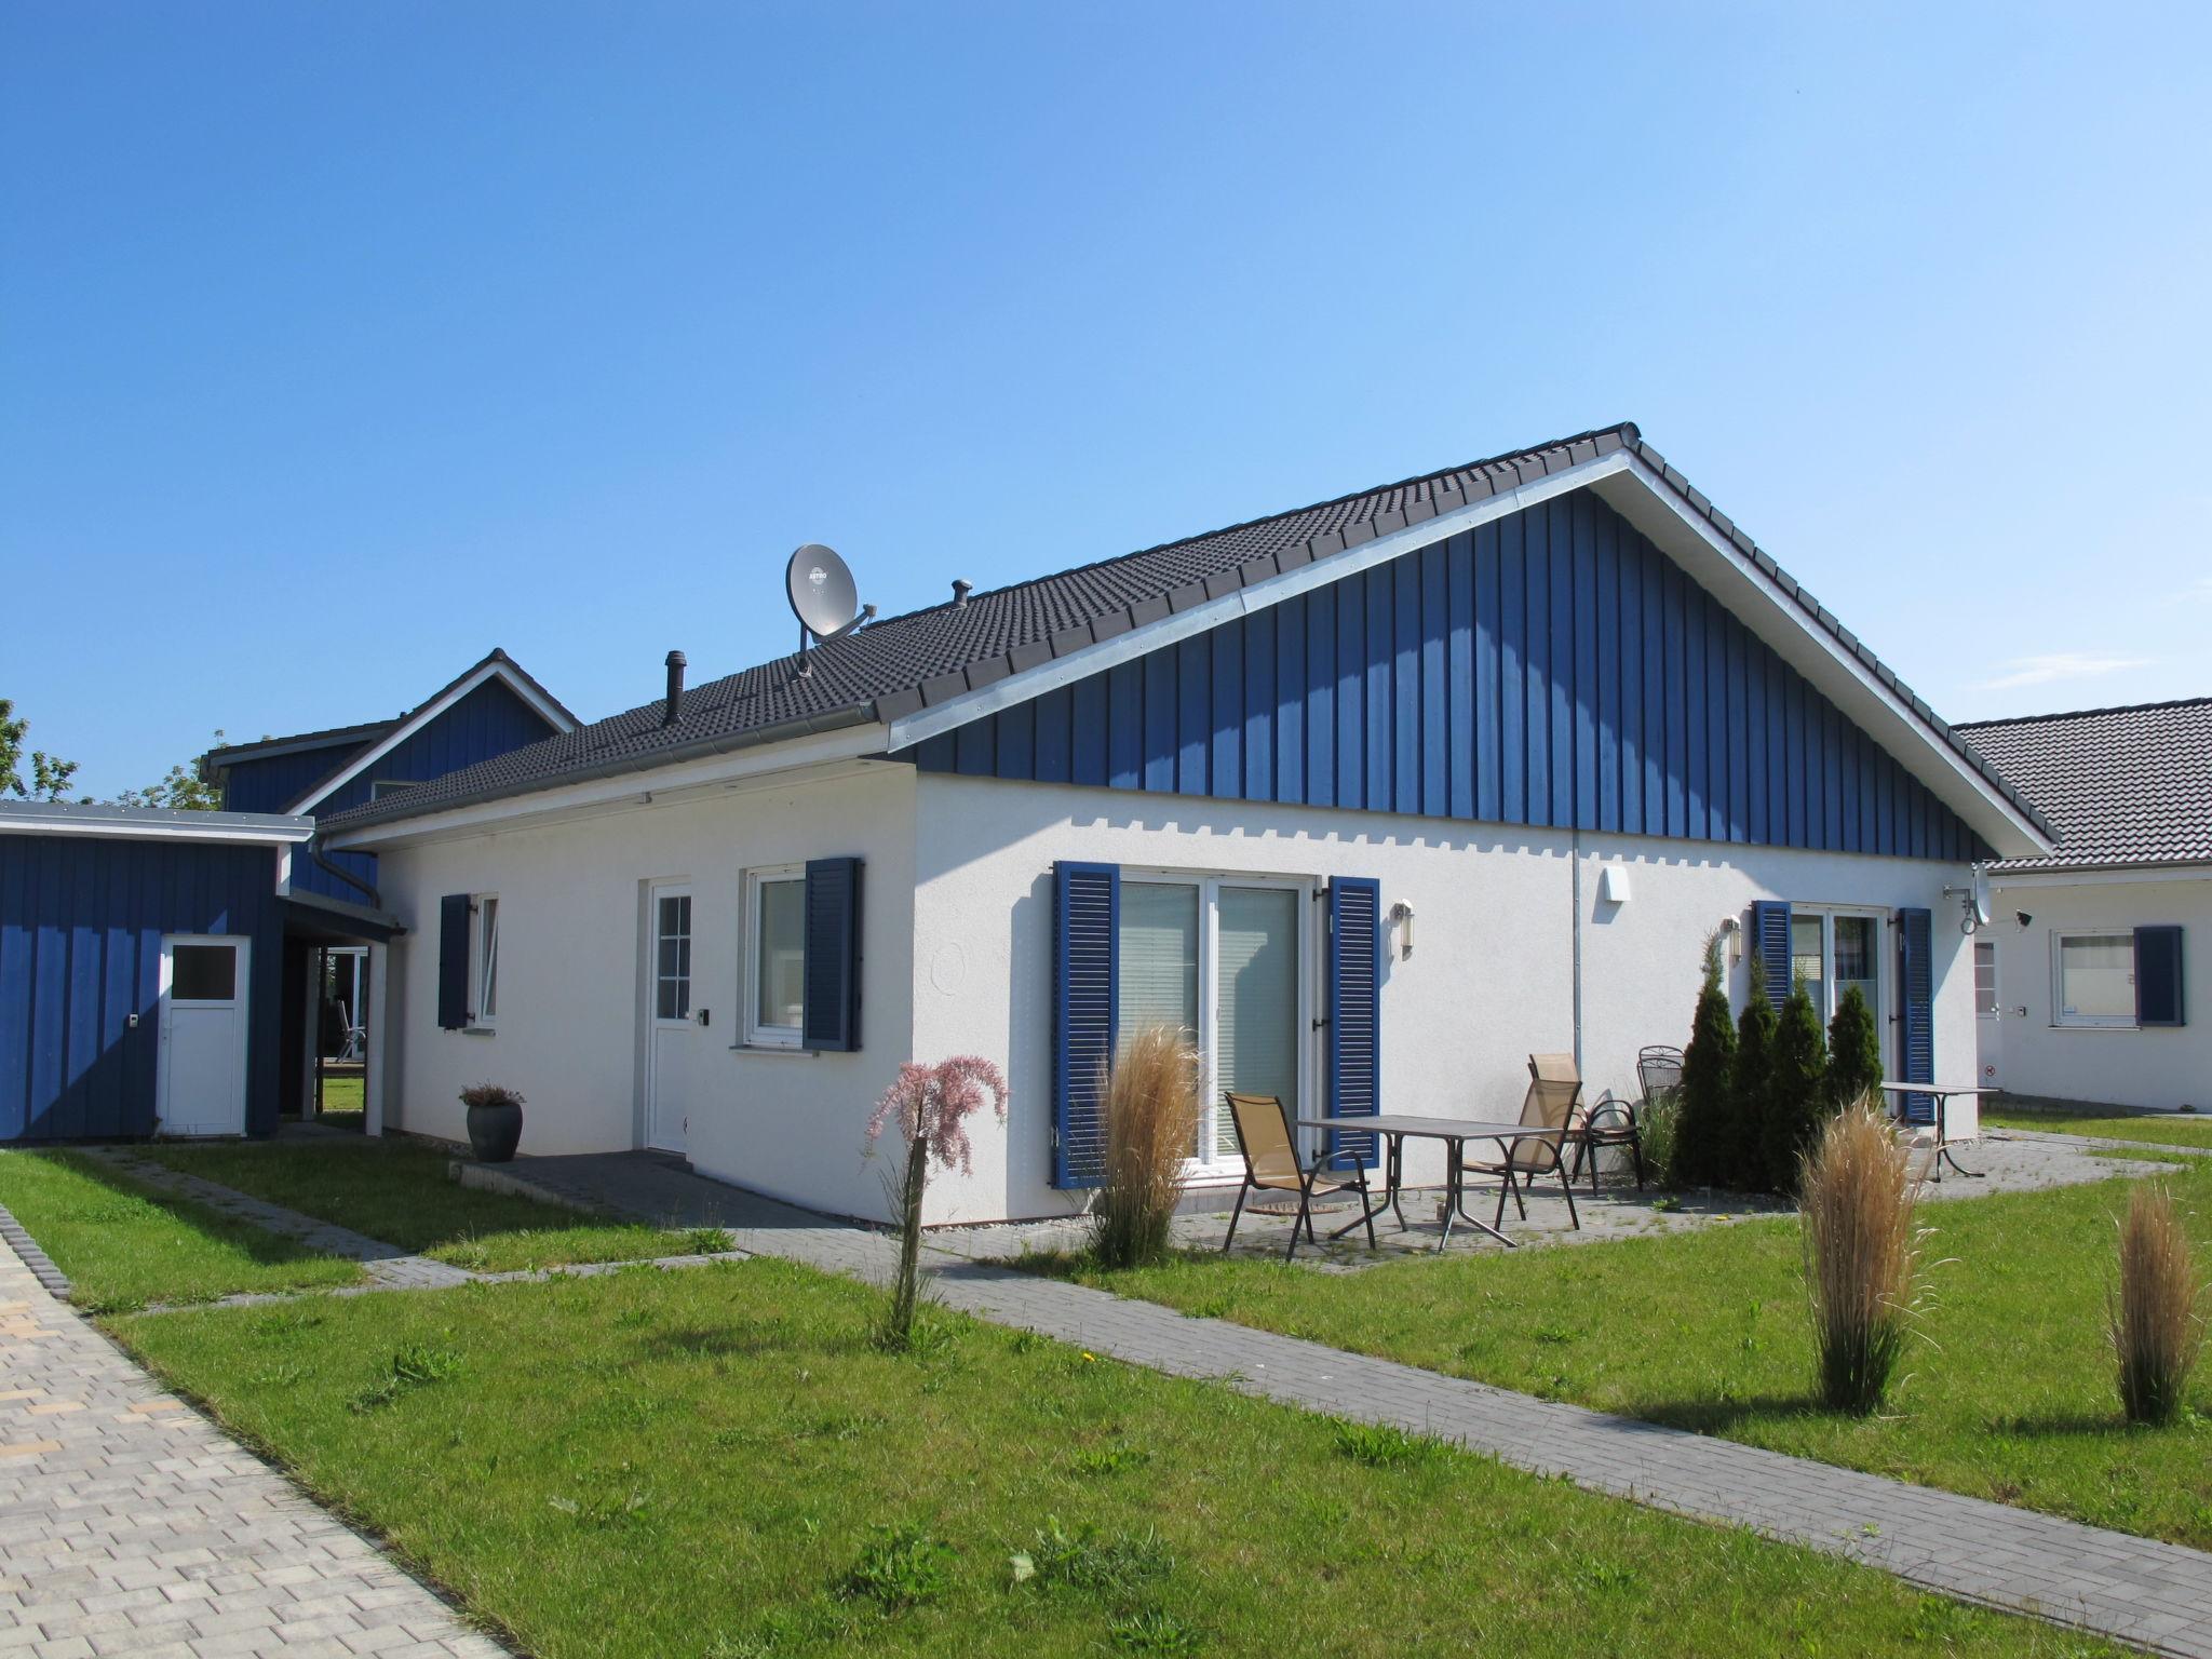
[(250, 940), (246, 1126), (274, 1133), (276, 854), (0, 836), (0, 1144), (153, 1133), (164, 933)]

